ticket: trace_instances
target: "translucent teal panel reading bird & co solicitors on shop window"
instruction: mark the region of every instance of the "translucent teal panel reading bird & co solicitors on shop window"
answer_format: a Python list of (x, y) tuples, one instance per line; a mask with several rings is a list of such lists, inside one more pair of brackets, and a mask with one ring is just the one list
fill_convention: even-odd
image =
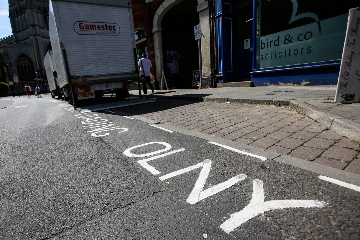
[(348, 14), (260, 37), (260, 68), (341, 58)]

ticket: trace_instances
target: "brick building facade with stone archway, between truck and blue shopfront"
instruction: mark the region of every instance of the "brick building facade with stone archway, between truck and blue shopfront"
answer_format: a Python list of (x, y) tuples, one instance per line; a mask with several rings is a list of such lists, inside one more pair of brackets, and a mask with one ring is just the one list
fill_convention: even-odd
[[(204, 0), (132, 0), (138, 57), (145, 52), (153, 64), (152, 80), (161, 81), (170, 68), (176, 88), (191, 88), (199, 69), (194, 26), (201, 24), (202, 87), (212, 87), (209, 2)], [(145, 44), (146, 42), (146, 44)], [(158, 85), (158, 83), (156, 84)]]

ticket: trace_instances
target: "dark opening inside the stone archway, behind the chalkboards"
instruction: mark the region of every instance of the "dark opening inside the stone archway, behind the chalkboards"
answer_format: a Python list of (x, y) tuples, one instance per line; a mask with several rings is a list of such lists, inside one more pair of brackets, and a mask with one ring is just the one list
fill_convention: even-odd
[(199, 24), (197, 1), (184, 0), (163, 17), (163, 66), (170, 68), (177, 89), (192, 87), (192, 74), (199, 69), (198, 42), (194, 40), (194, 26)]

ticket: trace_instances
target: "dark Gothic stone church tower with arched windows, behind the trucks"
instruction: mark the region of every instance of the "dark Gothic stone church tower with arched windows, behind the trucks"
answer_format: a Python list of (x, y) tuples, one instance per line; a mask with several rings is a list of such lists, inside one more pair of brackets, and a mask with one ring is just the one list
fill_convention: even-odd
[[(49, 37), (49, 0), (8, 0), (13, 35), (0, 40), (6, 80), (14, 76), (20, 85), (37, 84), (46, 79), (43, 60), (51, 49)], [(0, 36), (3, 37), (3, 36)], [(16, 79), (15, 77), (15, 79)]]

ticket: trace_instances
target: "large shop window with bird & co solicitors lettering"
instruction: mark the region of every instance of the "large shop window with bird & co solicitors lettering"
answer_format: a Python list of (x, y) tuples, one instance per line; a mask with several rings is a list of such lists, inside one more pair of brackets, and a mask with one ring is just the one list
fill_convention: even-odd
[(257, 68), (341, 59), (350, 8), (358, 1), (258, 0)]

